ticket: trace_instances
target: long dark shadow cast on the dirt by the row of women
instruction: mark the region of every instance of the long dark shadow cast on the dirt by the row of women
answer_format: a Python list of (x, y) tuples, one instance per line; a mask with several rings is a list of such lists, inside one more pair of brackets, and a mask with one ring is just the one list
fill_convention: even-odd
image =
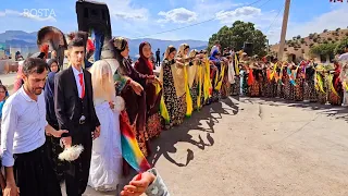
[[(223, 107), (223, 103), (228, 107)], [(234, 103), (229, 98), (227, 98), (223, 99), (221, 102), (214, 102), (210, 106), (206, 106), (200, 111), (194, 112), (192, 117), (185, 120), (182, 125), (163, 131), (159, 138), (151, 140), (150, 146), (152, 155), (148, 158), (149, 163), (154, 167), (160, 157), (163, 156), (166, 160), (177, 167), (188, 166), (195, 158), (195, 151), (188, 148), (186, 161), (178, 162), (170, 155), (177, 151), (175, 144), (189, 143), (198, 147), (200, 150), (204, 150), (207, 147), (213, 146), (213, 134), (215, 133), (214, 125), (222, 119), (222, 114), (235, 115), (238, 111), (237, 103)], [(202, 127), (201, 122), (206, 122), (208, 127)], [(201, 132), (199, 133), (198, 140), (195, 140), (189, 134), (189, 131), (192, 130)], [(208, 143), (204, 140), (208, 140)]]

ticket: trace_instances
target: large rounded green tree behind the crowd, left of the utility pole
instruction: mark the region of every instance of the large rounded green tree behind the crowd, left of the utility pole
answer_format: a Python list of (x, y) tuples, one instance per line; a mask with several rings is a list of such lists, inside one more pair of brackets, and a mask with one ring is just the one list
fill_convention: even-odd
[(261, 30), (254, 28), (253, 23), (236, 21), (232, 27), (223, 26), (209, 38), (208, 49), (211, 49), (216, 40), (220, 41), (222, 48), (234, 47), (235, 50), (241, 50), (244, 42), (251, 42), (254, 54), (264, 56), (266, 53), (266, 37)]

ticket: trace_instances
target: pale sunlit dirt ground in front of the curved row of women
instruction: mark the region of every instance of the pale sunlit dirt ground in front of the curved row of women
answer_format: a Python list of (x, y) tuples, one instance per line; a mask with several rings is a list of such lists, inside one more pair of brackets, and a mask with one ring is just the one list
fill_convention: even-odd
[(341, 107), (231, 98), (163, 132), (149, 161), (174, 196), (347, 196), (347, 122)]

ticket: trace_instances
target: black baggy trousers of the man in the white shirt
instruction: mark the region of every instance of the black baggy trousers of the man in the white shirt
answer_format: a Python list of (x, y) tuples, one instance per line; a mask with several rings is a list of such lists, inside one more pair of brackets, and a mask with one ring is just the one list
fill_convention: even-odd
[(13, 172), (21, 196), (61, 196), (61, 186), (57, 180), (47, 147), (25, 154), (15, 154)]

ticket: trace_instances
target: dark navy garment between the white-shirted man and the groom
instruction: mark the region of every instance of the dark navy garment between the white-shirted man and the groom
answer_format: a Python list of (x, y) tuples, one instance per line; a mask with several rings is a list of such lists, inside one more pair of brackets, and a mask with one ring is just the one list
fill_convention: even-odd
[(45, 101), (46, 101), (46, 120), (50, 125), (58, 125), (58, 120), (54, 112), (54, 76), (55, 72), (50, 72), (47, 76), (45, 85)]

